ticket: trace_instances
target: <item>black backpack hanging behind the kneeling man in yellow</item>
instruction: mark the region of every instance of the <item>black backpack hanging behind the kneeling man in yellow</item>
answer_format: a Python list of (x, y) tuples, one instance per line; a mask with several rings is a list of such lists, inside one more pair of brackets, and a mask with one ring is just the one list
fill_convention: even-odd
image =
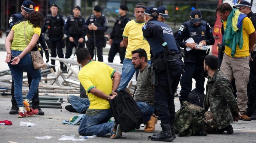
[(144, 120), (137, 103), (125, 90), (121, 90), (114, 99), (110, 99), (109, 104), (116, 123), (120, 124), (124, 132), (135, 129)]

